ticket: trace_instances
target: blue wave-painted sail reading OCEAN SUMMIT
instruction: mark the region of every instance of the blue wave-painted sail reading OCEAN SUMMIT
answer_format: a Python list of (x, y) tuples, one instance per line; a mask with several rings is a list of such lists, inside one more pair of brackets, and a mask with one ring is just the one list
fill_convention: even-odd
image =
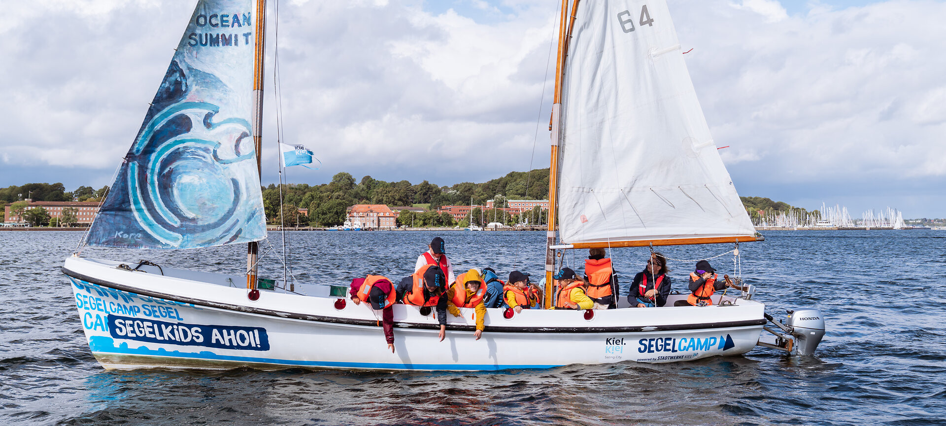
[(194, 248), (266, 238), (250, 124), (253, 6), (198, 2), (88, 244)]

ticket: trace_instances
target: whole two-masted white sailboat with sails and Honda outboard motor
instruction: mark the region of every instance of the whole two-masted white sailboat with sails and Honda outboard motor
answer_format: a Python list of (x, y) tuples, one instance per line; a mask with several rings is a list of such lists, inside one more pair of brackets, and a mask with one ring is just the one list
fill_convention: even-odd
[[(663, 308), (490, 309), (479, 341), (472, 310), (450, 316), (449, 341), (439, 342), (432, 316), (398, 304), (394, 353), (372, 349), (382, 330), (368, 304), (346, 303), (328, 286), (309, 286), (307, 294), (263, 288), (256, 266), (266, 238), (259, 189), (265, 12), (265, 0), (198, 2), (83, 239), (149, 249), (246, 244), (247, 268), (226, 275), (80, 250), (67, 257), (62, 272), (105, 368), (671, 363), (745, 354), (761, 344), (763, 328), (777, 336), (764, 345), (815, 350), (824, 333), (820, 312), (796, 310), (783, 324), (751, 288), (714, 295), (709, 307), (673, 307), (686, 297), (680, 294)], [(557, 255), (566, 250), (761, 240), (716, 153), (665, 2), (573, 0), (569, 7), (563, 0), (559, 28), (546, 308), (552, 272), (562, 266)]]

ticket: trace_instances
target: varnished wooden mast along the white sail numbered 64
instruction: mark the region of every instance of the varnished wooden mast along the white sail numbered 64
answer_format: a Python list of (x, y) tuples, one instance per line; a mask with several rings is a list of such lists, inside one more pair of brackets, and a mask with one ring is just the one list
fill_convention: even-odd
[[(575, 5), (578, 0), (574, 0)], [(558, 20), (558, 56), (555, 60), (555, 92), (552, 98), (552, 154), (549, 169), (549, 229), (546, 232), (545, 243), (545, 309), (552, 308), (552, 275), (555, 274), (555, 225), (557, 224), (556, 211), (558, 210), (558, 138), (559, 117), (562, 110), (562, 75), (565, 72), (565, 56), (568, 47), (565, 23), (569, 16), (569, 0), (562, 0), (562, 13)]]

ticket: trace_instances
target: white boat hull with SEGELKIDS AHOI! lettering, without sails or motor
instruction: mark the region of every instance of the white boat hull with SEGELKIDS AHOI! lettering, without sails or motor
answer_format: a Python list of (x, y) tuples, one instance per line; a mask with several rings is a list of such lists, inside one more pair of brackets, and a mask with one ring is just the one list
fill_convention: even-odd
[(263, 291), (251, 301), (241, 275), (170, 268), (161, 275), (156, 267), (143, 266), (147, 273), (141, 273), (117, 264), (69, 257), (63, 267), (89, 346), (106, 368), (497, 370), (671, 363), (748, 352), (765, 323), (761, 303), (728, 296), (734, 306), (594, 311), (590, 320), (585, 311), (544, 310), (505, 319), (496, 309), (488, 310), (486, 331), (476, 341), (473, 312), (464, 310), (465, 319), (449, 316), (447, 339), (438, 342), (432, 316), (395, 305), (391, 353), (378, 326), (380, 312), (350, 300), (336, 310), (338, 298), (327, 295), (327, 286), (304, 289), (312, 295)]

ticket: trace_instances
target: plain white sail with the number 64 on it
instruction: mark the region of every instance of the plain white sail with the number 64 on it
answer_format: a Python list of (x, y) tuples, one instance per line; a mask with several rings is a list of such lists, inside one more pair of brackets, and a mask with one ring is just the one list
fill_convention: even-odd
[(574, 14), (560, 120), (560, 240), (755, 235), (666, 2), (586, 0)]

